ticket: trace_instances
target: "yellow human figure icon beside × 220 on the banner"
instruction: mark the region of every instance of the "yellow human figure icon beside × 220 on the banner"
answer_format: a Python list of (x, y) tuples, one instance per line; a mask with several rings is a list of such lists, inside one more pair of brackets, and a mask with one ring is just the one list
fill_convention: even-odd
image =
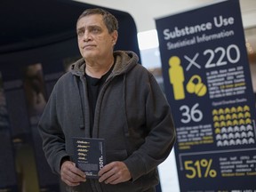
[(169, 60), (169, 78), (172, 84), (173, 94), (175, 100), (183, 100), (185, 98), (184, 92), (184, 72), (180, 66), (180, 58), (172, 56)]

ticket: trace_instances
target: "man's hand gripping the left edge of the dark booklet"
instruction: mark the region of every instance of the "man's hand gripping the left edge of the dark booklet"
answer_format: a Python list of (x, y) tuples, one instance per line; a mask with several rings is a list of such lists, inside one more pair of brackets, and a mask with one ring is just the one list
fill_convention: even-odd
[(71, 161), (61, 164), (60, 176), (68, 186), (78, 186), (80, 182), (86, 181), (84, 172), (76, 168), (76, 164)]

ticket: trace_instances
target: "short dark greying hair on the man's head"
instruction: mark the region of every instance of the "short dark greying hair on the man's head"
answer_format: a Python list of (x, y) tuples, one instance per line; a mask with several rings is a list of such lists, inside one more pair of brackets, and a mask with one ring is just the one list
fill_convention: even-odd
[(86, 9), (79, 16), (79, 18), (77, 19), (77, 22), (78, 22), (78, 20), (81, 20), (85, 16), (92, 15), (92, 14), (102, 15), (103, 22), (105, 23), (106, 27), (108, 28), (108, 33), (113, 33), (115, 30), (118, 29), (118, 21), (116, 20), (116, 17), (113, 14), (111, 14), (110, 12), (100, 9), (100, 8)]

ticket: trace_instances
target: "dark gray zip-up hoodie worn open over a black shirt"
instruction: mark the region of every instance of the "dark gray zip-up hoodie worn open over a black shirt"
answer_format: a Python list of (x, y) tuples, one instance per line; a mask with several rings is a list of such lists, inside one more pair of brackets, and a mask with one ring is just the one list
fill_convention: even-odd
[[(92, 138), (106, 140), (107, 164), (123, 161), (132, 180), (117, 185), (87, 180), (68, 191), (153, 191), (157, 165), (169, 156), (175, 142), (171, 109), (154, 76), (138, 64), (134, 52), (114, 52), (116, 64), (97, 100)], [(52, 172), (72, 158), (72, 137), (90, 137), (90, 109), (84, 59), (55, 84), (38, 124)]]

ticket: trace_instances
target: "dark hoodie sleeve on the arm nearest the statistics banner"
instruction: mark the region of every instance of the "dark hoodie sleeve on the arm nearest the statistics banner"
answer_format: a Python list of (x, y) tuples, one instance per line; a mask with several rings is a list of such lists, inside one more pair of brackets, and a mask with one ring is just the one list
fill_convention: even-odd
[(156, 169), (169, 156), (176, 132), (172, 121), (171, 108), (155, 77), (149, 74), (145, 100), (146, 130), (144, 143), (124, 163), (132, 174), (132, 180)]

